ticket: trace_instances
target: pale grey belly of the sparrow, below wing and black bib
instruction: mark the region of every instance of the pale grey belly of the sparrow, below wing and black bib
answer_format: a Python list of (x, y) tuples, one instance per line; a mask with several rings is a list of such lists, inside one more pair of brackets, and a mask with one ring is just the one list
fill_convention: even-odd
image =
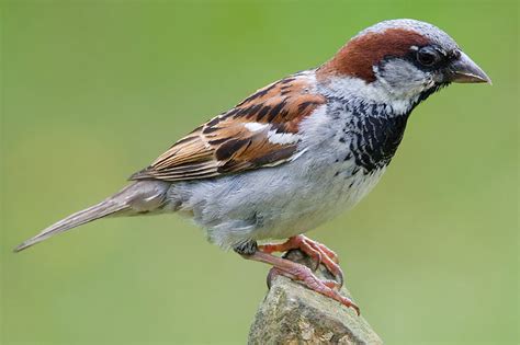
[(350, 168), (330, 165), (309, 172), (290, 163), (283, 169), (177, 184), (169, 198), (177, 210), (192, 215), (212, 242), (231, 248), (247, 240), (299, 234), (353, 207), (384, 169), (365, 173)]

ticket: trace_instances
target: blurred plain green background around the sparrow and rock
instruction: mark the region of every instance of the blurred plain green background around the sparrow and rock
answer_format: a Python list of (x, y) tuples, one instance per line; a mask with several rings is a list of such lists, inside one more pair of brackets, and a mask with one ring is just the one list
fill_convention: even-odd
[(494, 85), (411, 116), (374, 192), (310, 237), (387, 344), (518, 344), (517, 1), (3, 1), (1, 344), (244, 344), (268, 267), (178, 216), (11, 249), (256, 89), (415, 18)]

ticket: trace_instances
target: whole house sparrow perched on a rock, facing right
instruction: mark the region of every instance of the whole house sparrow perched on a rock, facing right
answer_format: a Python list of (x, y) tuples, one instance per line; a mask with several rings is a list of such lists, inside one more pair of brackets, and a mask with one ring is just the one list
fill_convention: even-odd
[[(176, 212), (210, 242), (271, 265), (270, 277), (286, 276), (359, 314), (340, 294), (338, 255), (305, 233), (377, 184), (419, 103), (450, 83), (481, 82), (491, 80), (439, 27), (411, 19), (376, 23), (319, 67), (259, 89), (196, 127), (123, 189), (14, 251), (100, 218)], [(295, 249), (335, 279), (273, 255)]]

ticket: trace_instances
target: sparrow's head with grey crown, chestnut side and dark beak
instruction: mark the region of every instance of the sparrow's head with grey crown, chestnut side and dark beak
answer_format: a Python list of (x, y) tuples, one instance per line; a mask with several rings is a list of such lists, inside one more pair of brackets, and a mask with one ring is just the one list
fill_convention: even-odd
[(365, 28), (319, 67), (317, 77), (366, 85), (360, 92), (376, 101), (414, 104), (451, 82), (491, 82), (446, 33), (408, 19)]

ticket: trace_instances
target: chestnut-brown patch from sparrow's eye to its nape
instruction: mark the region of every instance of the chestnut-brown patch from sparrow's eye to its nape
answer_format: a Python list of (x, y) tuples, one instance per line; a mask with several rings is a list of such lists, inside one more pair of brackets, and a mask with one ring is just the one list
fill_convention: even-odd
[(410, 46), (423, 46), (429, 39), (405, 28), (387, 28), (381, 33), (366, 33), (348, 42), (330, 60), (321, 65), (318, 80), (331, 76), (350, 76), (366, 82), (375, 81), (373, 66), (384, 57), (402, 57)]

